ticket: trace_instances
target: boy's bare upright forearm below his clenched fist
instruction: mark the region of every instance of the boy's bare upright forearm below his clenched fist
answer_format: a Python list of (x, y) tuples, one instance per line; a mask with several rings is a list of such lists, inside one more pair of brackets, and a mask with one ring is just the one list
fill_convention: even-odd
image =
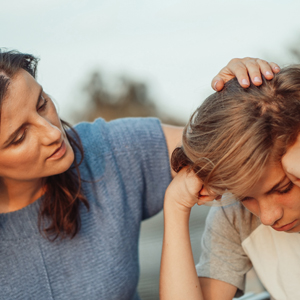
[(161, 300), (203, 300), (189, 235), (190, 210), (166, 193), (160, 269)]

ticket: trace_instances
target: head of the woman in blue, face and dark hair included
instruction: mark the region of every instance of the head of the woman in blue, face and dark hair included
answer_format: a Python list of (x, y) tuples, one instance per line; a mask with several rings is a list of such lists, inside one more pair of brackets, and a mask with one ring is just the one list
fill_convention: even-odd
[(88, 206), (73, 151), (83, 155), (83, 150), (36, 81), (37, 62), (30, 54), (0, 49), (1, 188), (42, 184), (46, 192), (39, 222), (50, 220), (43, 230), (53, 238), (74, 236), (80, 226), (79, 202)]

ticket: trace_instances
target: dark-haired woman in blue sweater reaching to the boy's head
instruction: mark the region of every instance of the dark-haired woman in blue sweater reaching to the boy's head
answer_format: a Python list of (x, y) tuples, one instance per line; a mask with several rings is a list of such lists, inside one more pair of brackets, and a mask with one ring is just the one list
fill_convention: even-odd
[(181, 128), (137, 118), (71, 129), (36, 66), (0, 53), (0, 299), (139, 299), (140, 223), (162, 209)]

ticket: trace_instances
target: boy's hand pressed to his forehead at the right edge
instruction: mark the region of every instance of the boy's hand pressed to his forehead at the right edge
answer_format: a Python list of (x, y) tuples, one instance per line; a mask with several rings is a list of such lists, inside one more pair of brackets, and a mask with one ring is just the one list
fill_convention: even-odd
[(300, 134), (296, 142), (287, 149), (282, 159), (282, 167), (289, 179), (300, 186)]

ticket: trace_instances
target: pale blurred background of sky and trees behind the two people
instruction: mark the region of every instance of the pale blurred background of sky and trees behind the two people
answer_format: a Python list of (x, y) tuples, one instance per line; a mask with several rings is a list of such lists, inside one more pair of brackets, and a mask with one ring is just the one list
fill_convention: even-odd
[[(73, 124), (98, 116), (184, 124), (231, 58), (300, 62), (296, 0), (0, 2), (0, 46), (41, 58), (38, 81)], [(207, 212), (191, 216), (195, 261)], [(162, 228), (162, 213), (142, 224), (142, 299), (158, 299)], [(247, 289), (261, 290), (253, 278)]]

